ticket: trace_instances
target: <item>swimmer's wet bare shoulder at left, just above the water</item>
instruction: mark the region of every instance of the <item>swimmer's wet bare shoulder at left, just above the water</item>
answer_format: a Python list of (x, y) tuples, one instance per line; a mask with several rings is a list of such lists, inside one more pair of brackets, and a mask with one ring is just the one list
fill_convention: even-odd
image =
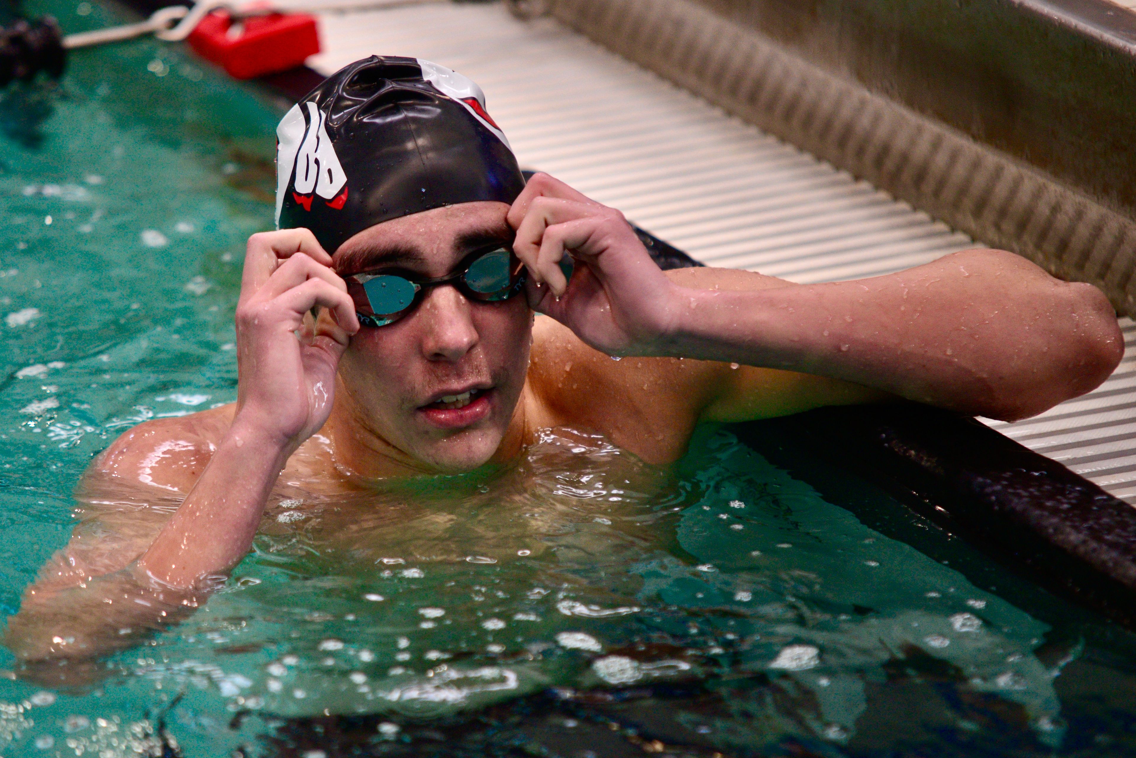
[(120, 482), (186, 493), (204, 470), (233, 420), (235, 403), (186, 416), (154, 418), (122, 434), (87, 468), (87, 480)]

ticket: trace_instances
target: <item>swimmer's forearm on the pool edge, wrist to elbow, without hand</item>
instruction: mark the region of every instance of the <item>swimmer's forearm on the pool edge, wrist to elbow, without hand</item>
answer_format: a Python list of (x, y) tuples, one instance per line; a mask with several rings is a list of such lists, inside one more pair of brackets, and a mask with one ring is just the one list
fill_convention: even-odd
[(680, 289), (660, 352), (830, 376), (995, 418), (1093, 389), (1122, 339), (1104, 295), (1011, 253), (753, 291)]

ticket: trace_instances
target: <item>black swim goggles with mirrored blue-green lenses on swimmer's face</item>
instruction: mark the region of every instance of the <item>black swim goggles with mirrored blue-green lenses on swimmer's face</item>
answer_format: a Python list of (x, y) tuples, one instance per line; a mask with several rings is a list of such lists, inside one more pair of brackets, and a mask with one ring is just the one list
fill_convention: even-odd
[(419, 278), (409, 272), (386, 269), (352, 274), (343, 280), (359, 323), (386, 326), (410, 315), (429, 290), (446, 284), (477, 302), (508, 300), (524, 286), (525, 266), (509, 247), (493, 245), (466, 256), (457, 270), (440, 278)]

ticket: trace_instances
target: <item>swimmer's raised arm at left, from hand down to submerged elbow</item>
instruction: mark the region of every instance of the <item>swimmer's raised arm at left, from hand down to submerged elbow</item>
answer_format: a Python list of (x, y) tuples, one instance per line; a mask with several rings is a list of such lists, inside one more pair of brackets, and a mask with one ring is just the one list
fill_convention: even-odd
[[(199, 434), (186, 434), (189, 427), (169, 419), (164, 422), (173, 424), (169, 430), (143, 424), (139, 430), (152, 432), (153, 440), (137, 442), (142, 432), (132, 432), (102, 457), (105, 466), (132, 483), (186, 493), (184, 500), (130, 565), (90, 582), (40, 585), (44, 592), (26, 594), (7, 632), (17, 655), (25, 660), (92, 658), (128, 647), (116, 636), (119, 628), (176, 620), (249, 551), (285, 463), (327, 420), (339, 358), (359, 327), (346, 285), (331, 263), (308, 230), (249, 239), (236, 308), (236, 406), (195, 415)], [(348, 324), (350, 333), (331, 316), (306, 319), (315, 306)], [(198, 456), (186, 465), (165, 459), (186, 451)], [(117, 606), (112, 611), (99, 605), (108, 599), (115, 602), (107, 606)], [(61, 634), (59, 625), (75, 633)]]

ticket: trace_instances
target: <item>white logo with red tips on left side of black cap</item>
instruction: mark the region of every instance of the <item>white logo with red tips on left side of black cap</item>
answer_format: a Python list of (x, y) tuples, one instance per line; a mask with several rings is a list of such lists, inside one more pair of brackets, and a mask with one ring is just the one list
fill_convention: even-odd
[(332, 139), (327, 135), (327, 116), (316, 103), (304, 105), (308, 107), (307, 123), (296, 105), (292, 106), (276, 127), (277, 227), (290, 180), (294, 190), (292, 197), (304, 210), (311, 210), (314, 195), (319, 195), (328, 207), (336, 210), (343, 208), (348, 199), (348, 176), (343, 173)]

